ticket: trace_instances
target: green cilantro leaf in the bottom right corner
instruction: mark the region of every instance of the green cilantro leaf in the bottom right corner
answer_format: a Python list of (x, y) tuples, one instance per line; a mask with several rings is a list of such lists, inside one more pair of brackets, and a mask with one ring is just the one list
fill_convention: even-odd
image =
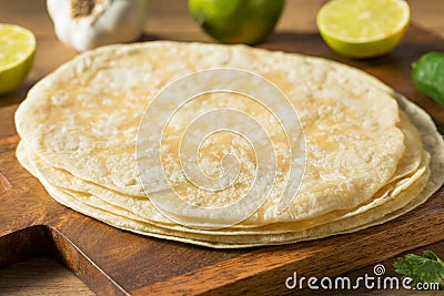
[(438, 283), (444, 289), (444, 262), (432, 251), (424, 251), (423, 256), (407, 254), (393, 264), (395, 272), (417, 283)]

